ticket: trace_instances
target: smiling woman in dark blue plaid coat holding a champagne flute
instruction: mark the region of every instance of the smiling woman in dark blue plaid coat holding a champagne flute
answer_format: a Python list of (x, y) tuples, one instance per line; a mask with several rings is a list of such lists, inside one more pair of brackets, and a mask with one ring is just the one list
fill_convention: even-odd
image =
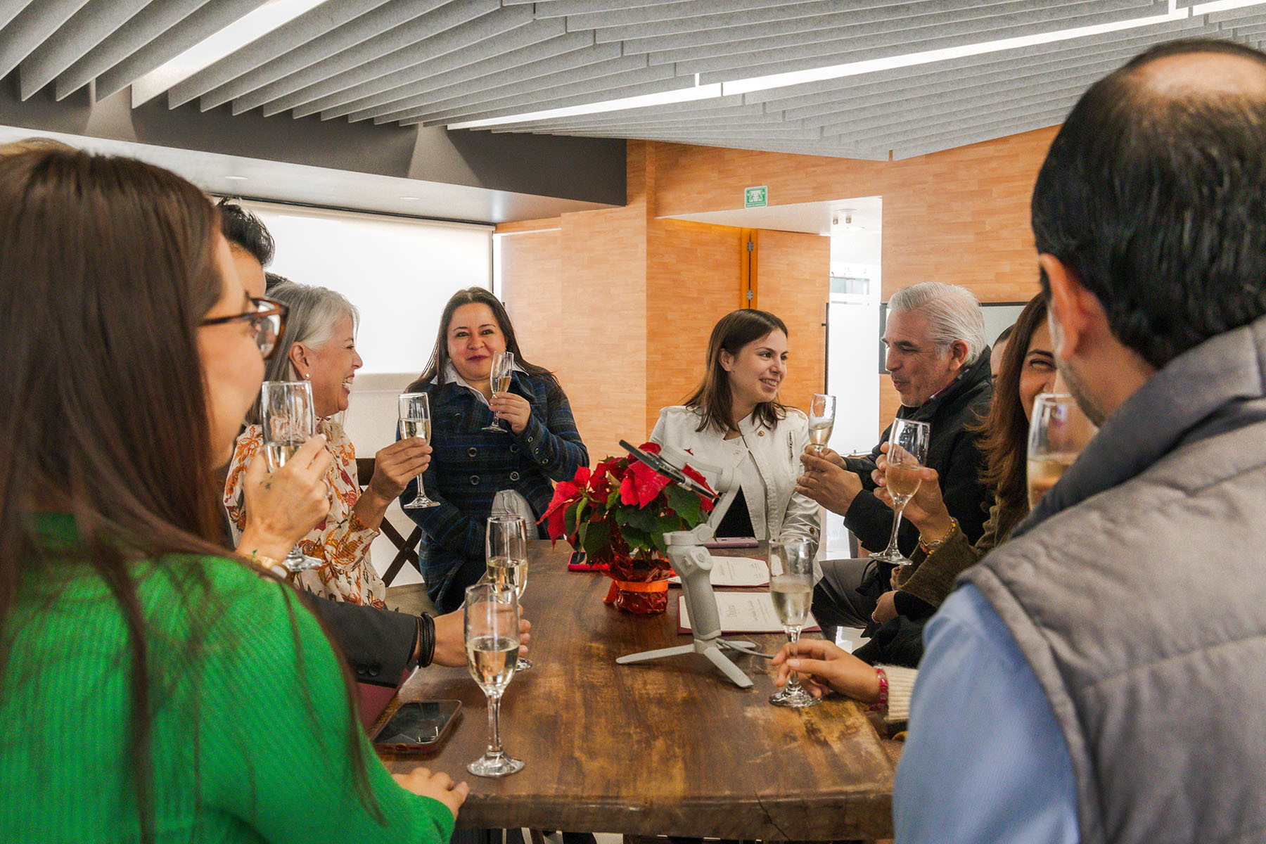
[[(506, 392), (492, 392), (494, 352), (514, 353)], [(405, 512), (423, 531), (427, 591), (441, 612), (449, 612), (484, 574), (484, 525), (492, 500), (536, 524), (553, 495), (551, 481), (570, 481), (589, 464), (589, 452), (558, 380), (523, 359), (505, 307), (482, 287), (448, 300), (430, 362), (409, 391), (430, 397), (434, 452), (422, 480), (427, 497), (439, 506)], [(485, 430), (494, 419), (506, 430)], [(417, 491), (411, 482), (401, 502)], [(544, 538), (543, 526), (536, 530)]]

